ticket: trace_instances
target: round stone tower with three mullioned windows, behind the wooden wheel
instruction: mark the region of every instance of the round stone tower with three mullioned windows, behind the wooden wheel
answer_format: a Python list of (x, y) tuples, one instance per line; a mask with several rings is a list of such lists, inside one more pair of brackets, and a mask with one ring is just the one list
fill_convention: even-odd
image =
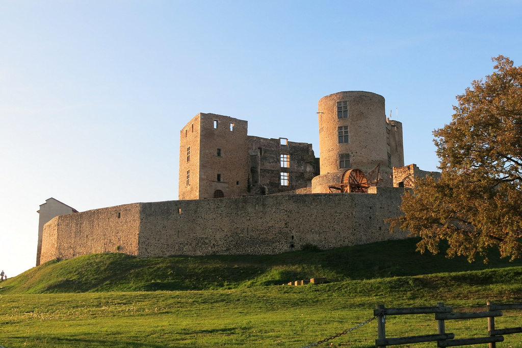
[(402, 124), (386, 119), (383, 96), (365, 91), (330, 94), (319, 100), (317, 114), (321, 175), (314, 192), (325, 192), (347, 169), (369, 173), (377, 165), (378, 185), (393, 185), (392, 166), (404, 166)]

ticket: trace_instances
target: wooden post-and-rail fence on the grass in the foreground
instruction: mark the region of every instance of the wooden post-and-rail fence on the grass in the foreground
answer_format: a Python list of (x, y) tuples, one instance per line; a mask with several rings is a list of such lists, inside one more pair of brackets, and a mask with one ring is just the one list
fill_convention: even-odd
[[(410, 344), (419, 342), (437, 342), (437, 347), (450, 347), (460, 345), (471, 345), (489, 343), (490, 348), (496, 348), (496, 342), (503, 342), (503, 335), (522, 332), (522, 327), (495, 329), (495, 317), (503, 315), (505, 309), (522, 309), (522, 304), (496, 305), (488, 301), (488, 310), (485, 312), (453, 312), (452, 307), (445, 307), (444, 303), (437, 303), (436, 307), (407, 307), (407, 308), (385, 308), (377, 305), (374, 316), (377, 317), (377, 335), (375, 345), (385, 347), (387, 345)], [(438, 332), (436, 334), (386, 338), (386, 316), (407, 314), (435, 314)], [(488, 318), (488, 336), (478, 338), (464, 338), (455, 340), (455, 334), (446, 333), (445, 321), (452, 319), (475, 319)]]

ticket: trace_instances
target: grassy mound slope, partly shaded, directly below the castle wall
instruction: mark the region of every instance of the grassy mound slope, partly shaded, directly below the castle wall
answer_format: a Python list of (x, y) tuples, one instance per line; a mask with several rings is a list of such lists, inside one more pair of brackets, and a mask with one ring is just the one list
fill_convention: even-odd
[[(138, 259), (121, 253), (50, 261), (2, 283), (0, 294), (183, 291), (277, 285), (311, 277), (379, 279), (522, 266), (492, 254), (489, 264), (415, 251), (416, 239), (270, 256)], [(474, 279), (476, 275), (473, 275)], [(428, 279), (428, 278), (426, 278)]]

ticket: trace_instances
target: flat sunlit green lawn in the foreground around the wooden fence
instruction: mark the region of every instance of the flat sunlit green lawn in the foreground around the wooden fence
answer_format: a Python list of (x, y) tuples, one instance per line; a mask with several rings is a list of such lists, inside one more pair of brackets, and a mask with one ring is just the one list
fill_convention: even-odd
[[(302, 347), (372, 318), (376, 304), (480, 311), (485, 301), (522, 301), (522, 268), (179, 292), (0, 295), (0, 344), (45, 348)], [(495, 319), (520, 326), (521, 311)], [(456, 338), (484, 337), (485, 319), (447, 321)], [(388, 337), (436, 333), (433, 315), (389, 316)], [(375, 321), (332, 341), (370, 348)], [(520, 347), (520, 335), (503, 346)], [(329, 346), (328, 343), (321, 346)], [(434, 342), (411, 345), (436, 346)]]

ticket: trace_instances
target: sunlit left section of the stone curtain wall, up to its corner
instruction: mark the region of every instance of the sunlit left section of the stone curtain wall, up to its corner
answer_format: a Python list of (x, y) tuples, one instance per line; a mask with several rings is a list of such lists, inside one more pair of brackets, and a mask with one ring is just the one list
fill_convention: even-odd
[(137, 255), (140, 205), (56, 216), (43, 228), (41, 262), (105, 251)]

